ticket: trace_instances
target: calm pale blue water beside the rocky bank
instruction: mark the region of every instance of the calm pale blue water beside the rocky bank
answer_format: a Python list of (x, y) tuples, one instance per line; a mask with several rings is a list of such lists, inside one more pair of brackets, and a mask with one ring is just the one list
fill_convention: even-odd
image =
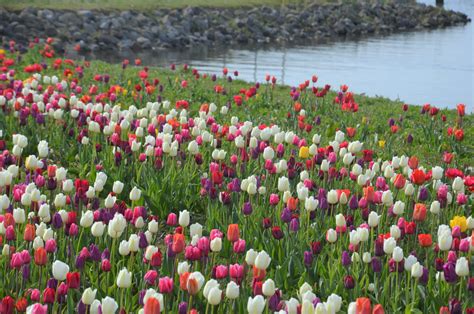
[[(435, 0), (420, 2), (434, 4)], [(474, 0), (446, 0), (445, 8), (474, 17)], [(153, 52), (136, 54), (146, 64), (188, 63), (201, 72), (239, 71), (239, 78), (297, 85), (313, 74), (318, 85), (342, 84), (356, 93), (440, 108), (466, 104), (474, 111), (474, 23), (340, 41), (317, 46)]]

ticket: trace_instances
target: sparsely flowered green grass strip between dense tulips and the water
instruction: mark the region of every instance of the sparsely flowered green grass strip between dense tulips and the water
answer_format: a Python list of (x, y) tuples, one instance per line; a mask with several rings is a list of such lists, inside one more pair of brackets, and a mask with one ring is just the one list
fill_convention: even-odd
[[(39, 61), (41, 60), (38, 60), (37, 54), (29, 53), (24, 57), (23, 64)], [(454, 152), (455, 163), (459, 167), (474, 165), (472, 114), (462, 119), (460, 126), (464, 136), (462, 141), (459, 141), (454, 137), (454, 133), (448, 135), (449, 130), (454, 132), (460, 122), (456, 110), (434, 108), (422, 113), (420, 106), (406, 106), (404, 109), (401, 101), (354, 95), (350, 91), (350, 86), (347, 87), (348, 91), (343, 93), (344, 97), (348, 96), (350, 100), (353, 96), (353, 102), (357, 104), (358, 109), (355, 112), (341, 110), (341, 104), (335, 103), (336, 96), (340, 93), (340, 86), (331, 86), (324, 97), (316, 97), (313, 93), (312, 88), (317, 88), (318, 92), (324, 89), (324, 78), (318, 79), (316, 83), (313, 83), (310, 77), (302, 78), (300, 88), (296, 89), (299, 94), (297, 100), (294, 94), (291, 94), (289, 86), (279, 85), (278, 82), (271, 84), (271, 81), (262, 82), (256, 90), (256, 95), (245, 100), (245, 92), (252, 89), (254, 84), (239, 80), (238, 76), (234, 75), (234, 71), (239, 69), (228, 69), (227, 76), (220, 75), (213, 81), (210, 76), (200, 73), (199, 69), (184, 70), (182, 65), (176, 66), (174, 71), (169, 68), (151, 67), (147, 68), (148, 80), (159, 83), (152, 95), (146, 95), (143, 90), (141, 92), (134, 90), (137, 86), (143, 85), (143, 80), (139, 77), (143, 67), (131, 65), (133, 60), (125, 69), (121, 64), (102, 61), (91, 61), (86, 64), (88, 67), (85, 67), (84, 71), (84, 87), (89, 88), (88, 86), (97, 84), (94, 81), (94, 76), (97, 74), (109, 75), (115, 79), (107, 84), (100, 83), (98, 86), (102, 89), (110, 88), (112, 84), (124, 86), (126, 91), (117, 99), (117, 103), (122, 106), (133, 104), (141, 107), (146, 101), (156, 100), (157, 97), (169, 100), (171, 104), (175, 104), (178, 100), (186, 100), (190, 104), (191, 113), (196, 113), (202, 104), (215, 103), (218, 107), (232, 104), (232, 109), (228, 113), (228, 123), (230, 117), (235, 115), (241, 121), (274, 123), (283, 129), (295, 129), (297, 134), (302, 136), (322, 134), (328, 140), (334, 137), (336, 130), (354, 129), (355, 135), (352, 140), (366, 143), (367, 147), (374, 151), (375, 156), (380, 158), (392, 155), (416, 155), (422, 162), (433, 165), (442, 162), (444, 152)], [(75, 66), (84, 64), (76, 63)], [(21, 68), (19, 70), (22, 72)], [(61, 71), (49, 67), (44, 74), (60, 76)], [(29, 74), (20, 73), (19, 76), (27, 78)], [(229, 82), (228, 77), (232, 78), (232, 82)], [(305, 81), (307, 81), (306, 87)], [(181, 87), (182, 82), (186, 82), (187, 87)], [(216, 92), (216, 88), (224, 92)], [(237, 95), (244, 99), (245, 110), (239, 110), (241, 108), (235, 106)], [(310, 130), (298, 128), (300, 119), (298, 116), (301, 112), (295, 108), (299, 106), (306, 112), (303, 121), (305, 127), (310, 126)], [(409, 138), (412, 138), (412, 141)]]

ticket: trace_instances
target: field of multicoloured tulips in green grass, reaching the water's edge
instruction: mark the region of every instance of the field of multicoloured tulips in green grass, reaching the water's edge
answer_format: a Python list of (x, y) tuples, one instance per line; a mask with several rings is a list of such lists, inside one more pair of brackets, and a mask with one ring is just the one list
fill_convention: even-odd
[(474, 103), (6, 46), (0, 313), (474, 313)]

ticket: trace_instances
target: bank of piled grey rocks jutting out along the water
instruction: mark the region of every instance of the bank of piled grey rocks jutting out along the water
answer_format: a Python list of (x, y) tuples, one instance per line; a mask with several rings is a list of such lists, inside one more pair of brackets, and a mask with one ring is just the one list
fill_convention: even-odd
[(313, 43), (466, 24), (463, 13), (413, 1), (135, 11), (0, 8), (0, 38), (56, 39), (60, 51), (140, 51), (192, 46)]

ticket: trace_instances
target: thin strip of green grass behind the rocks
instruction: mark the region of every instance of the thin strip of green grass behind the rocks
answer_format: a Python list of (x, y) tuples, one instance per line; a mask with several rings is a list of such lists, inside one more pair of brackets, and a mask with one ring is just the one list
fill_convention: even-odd
[(328, 2), (326, 0), (0, 0), (0, 7), (11, 10), (21, 10), (26, 7), (35, 7), (40, 9), (100, 9), (100, 10), (154, 10), (163, 8), (183, 8), (187, 6), (202, 7), (250, 7), (256, 5), (286, 5), (307, 4), (309, 2)]

